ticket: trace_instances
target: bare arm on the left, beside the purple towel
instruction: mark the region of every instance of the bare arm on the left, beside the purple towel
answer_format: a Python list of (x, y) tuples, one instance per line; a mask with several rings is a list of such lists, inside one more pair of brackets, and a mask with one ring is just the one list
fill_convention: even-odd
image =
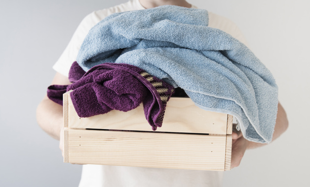
[[(52, 84), (69, 85), (68, 77), (56, 73)], [(36, 109), (36, 119), (40, 127), (51, 137), (59, 140), (62, 128), (62, 106), (44, 96)]]

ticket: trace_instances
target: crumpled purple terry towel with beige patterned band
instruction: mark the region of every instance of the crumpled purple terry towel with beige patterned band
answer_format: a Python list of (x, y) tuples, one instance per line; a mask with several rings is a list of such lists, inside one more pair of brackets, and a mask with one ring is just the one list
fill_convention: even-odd
[[(84, 75), (83, 72), (74, 62), (69, 80), (75, 82), (66, 85), (66, 90), (63, 90), (65, 86), (52, 85), (48, 93), (63, 94), (73, 90), (70, 93), (71, 100), (81, 118), (105, 114), (111, 110), (127, 112), (142, 102), (152, 129), (161, 127), (166, 103), (174, 92), (171, 85), (130, 64), (104, 63), (94, 66)], [(50, 98), (60, 97), (50, 95)], [(60, 102), (57, 99), (54, 101)]]

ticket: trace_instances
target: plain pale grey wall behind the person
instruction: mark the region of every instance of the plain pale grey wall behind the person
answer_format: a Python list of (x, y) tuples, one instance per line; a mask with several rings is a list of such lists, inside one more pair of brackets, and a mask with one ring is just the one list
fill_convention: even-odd
[[(126, 0), (0, 2), (0, 186), (76, 187), (81, 166), (62, 163), (58, 141), (36, 123), (35, 110), (80, 21)], [(233, 20), (272, 71), (290, 126), (275, 142), (248, 150), (224, 172), (224, 187), (309, 185), (310, 2), (189, 0)]]

